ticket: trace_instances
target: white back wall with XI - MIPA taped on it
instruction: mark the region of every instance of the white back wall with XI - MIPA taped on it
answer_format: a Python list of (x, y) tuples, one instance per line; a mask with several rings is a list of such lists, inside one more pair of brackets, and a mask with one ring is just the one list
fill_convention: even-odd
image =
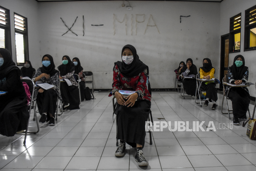
[[(114, 62), (122, 60), (122, 47), (131, 44), (149, 66), (151, 88), (174, 88), (173, 71), (187, 58), (192, 58), (198, 68), (203, 58), (212, 59), (218, 78), (221, 3), (130, 1), (132, 11), (126, 11), (122, 3), (128, 5), (123, 1), (38, 3), (40, 51), (30, 55), (32, 61), (38, 61), (35, 68), (41, 66), (44, 54), (51, 54), (56, 66), (63, 55), (78, 57), (84, 71), (93, 72), (94, 88), (111, 89)], [(113, 14), (119, 22), (126, 14), (127, 22), (115, 21), (113, 25)], [(144, 22), (143, 16), (137, 16), (141, 22), (137, 23), (137, 35), (135, 14), (145, 14)], [(148, 23), (151, 14), (160, 34), (152, 26), (153, 20)], [(180, 15), (191, 17), (183, 17), (180, 23)], [(71, 27), (76, 17), (71, 30), (78, 36), (71, 31), (64, 34), (68, 28), (60, 18)], [(100, 24), (104, 26), (91, 26)]]

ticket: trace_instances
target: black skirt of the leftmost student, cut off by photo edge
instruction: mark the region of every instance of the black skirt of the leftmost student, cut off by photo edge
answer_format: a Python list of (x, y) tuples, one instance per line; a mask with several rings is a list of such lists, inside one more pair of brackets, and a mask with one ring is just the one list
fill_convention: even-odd
[(17, 131), (27, 129), (29, 119), (27, 98), (15, 97), (3, 103), (0, 108), (0, 134), (11, 137)]

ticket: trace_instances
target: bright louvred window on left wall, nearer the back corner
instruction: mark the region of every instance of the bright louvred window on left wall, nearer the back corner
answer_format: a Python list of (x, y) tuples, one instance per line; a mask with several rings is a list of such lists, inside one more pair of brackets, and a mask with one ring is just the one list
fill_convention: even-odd
[(17, 66), (28, 60), (27, 18), (14, 13), (15, 45)]

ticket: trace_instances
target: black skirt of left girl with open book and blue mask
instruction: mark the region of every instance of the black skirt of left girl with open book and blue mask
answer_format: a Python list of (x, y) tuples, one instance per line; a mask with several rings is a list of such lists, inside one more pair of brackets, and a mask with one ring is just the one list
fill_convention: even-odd
[(40, 115), (47, 113), (47, 117), (50, 118), (49, 113), (55, 117), (57, 108), (57, 92), (54, 89), (44, 90), (43, 93), (37, 93), (36, 103)]

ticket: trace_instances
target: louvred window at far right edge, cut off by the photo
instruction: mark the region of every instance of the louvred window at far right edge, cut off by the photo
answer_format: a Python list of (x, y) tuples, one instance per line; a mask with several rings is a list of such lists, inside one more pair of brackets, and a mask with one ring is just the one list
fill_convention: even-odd
[(245, 11), (244, 51), (256, 50), (256, 5)]

